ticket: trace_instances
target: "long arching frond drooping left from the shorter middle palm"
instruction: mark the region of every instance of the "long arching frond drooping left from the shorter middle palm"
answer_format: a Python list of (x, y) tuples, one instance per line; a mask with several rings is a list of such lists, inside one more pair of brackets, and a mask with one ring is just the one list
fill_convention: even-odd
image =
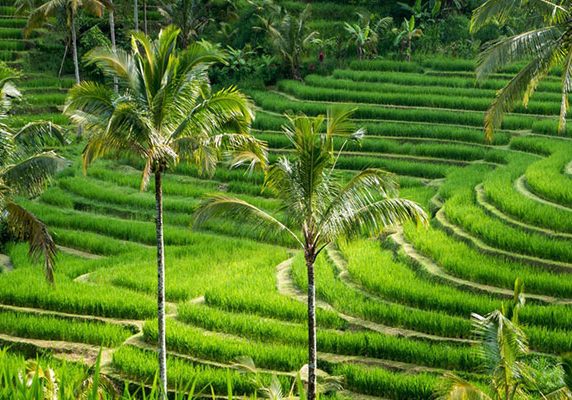
[(214, 195), (208, 197), (198, 208), (193, 216), (193, 226), (199, 228), (211, 218), (224, 217), (238, 222), (252, 222), (260, 229), (261, 235), (278, 229), (287, 232), (293, 239), (303, 247), (298, 236), (286, 225), (277, 220), (266, 211), (237, 198)]

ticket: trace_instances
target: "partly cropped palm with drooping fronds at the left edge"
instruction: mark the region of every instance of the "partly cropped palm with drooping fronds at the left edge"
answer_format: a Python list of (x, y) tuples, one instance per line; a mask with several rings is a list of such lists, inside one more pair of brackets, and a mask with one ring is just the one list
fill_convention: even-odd
[[(10, 79), (0, 79), (1, 119), (7, 118), (12, 101), (20, 97)], [(16, 238), (28, 241), (33, 259), (43, 257), (44, 273), (52, 283), (56, 245), (46, 225), (18, 204), (16, 196), (39, 195), (53, 174), (65, 166), (55, 152), (43, 151), (55, 141), (65, 143), (61, 128), (50, 122), (37, 121), (18, 130), (0, 123), (0, 223), (6, 223)]]

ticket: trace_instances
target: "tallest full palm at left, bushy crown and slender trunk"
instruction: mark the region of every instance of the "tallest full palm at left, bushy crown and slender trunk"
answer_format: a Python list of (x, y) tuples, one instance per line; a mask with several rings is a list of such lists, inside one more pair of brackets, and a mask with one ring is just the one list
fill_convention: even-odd
[[(64, 112), (90, 133), (83, 152), (84, 169), (106, 154), (129, 153), (145, 163), (141, 188), (155, 178), (157, 208), (157, 270), (159, 367), (163, 394), (167, 388), (165, 347), (165, 259), (162, 178), (181, 161), (202, 173), (214, 172), (225, 149), (243, 150), (240, 160), (263, 159), (259, 143), (250, 136), (253, 106), (236, 88), (212, 92), (208, 68), (223, 54), (206, 43), (177, 51), (179, 30), (163, 29), (152, 41), (134, 33), (131, 53), (95, 49), (87, 58), (105, 75), (116, 77), (120, 93), (105, 85), (74, 86)], [(237, 161), (237, 162), (238, 162)]]

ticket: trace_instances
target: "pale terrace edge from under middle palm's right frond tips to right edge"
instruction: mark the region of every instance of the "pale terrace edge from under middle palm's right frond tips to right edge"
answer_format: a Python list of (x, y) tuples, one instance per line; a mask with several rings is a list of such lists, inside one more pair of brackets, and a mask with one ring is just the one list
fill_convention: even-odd
[[(413, 262), (417, 267), (422, 269), (424, 272), (430, 274), (431, 276), (434, 276), (440, 280), (447, 281), (457, 287), (465, 287), (482, 293), (495, 294), (507, 298), (512, 298), (514, 296), (513, 290), (503, 289), (497, 286), (480, 284), (448, 274), (433, 260), (418, 253), (417, 250), (415, 250), (415, 248), (413, 247), (413, 245), (407, 242), (405, 236), (403, 235), (402, 229), (399, 229), (397, 232), (389, 235), (389, 238), (396, 245), (398, 245), (401, 250), (403, 250), (403, 253), (411, 260), (411, 262)], [(526, 297), (528, 299), (533, 299), (550, 304), (572, 304), (572, 299), (561, 299), (540, 294), (527, 293)]]

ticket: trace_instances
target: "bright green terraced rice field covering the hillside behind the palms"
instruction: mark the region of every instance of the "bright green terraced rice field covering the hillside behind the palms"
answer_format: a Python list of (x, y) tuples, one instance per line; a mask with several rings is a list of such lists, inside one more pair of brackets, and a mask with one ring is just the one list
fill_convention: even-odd
[[(11, 52), (14, 61), (20, 39), (12, 39), (22, 24), (0, 18), (1, 54)], [(2, 47), (4, 37), (14, 48)], [(528, 295), (521, 319), (532, 349), (572, 351), (572, 139), (548, 135), (555, 131), (559, 82), (542, 84), (530, 107), (517, 107), (487, 144), (483, 110), (508, 76), (476, 85), (470, 71), (470, 63), (443, 60), (355, 62), (330, 77), (245, 89), (258, 107), (255, 134), (273, 157), (288, 152), (278, 132), (284, 112), (355, 104), (368, 137), (347, 147), (338, 165), (394, 172), (402, 195), (433, 215), (428, 229), (408, 225), (383, 240), (340, 243), (318, 260), (320, 367), (344, 378), (342, 395), (429, 399), (446, 370), (484, 381), (469, 317), (499, 308), (517, 277)], [(21, 87), (29, 104), (11, 122), (66, 123), (58, 105), (70, 85), (67, 78), (26, 74)], [(60, 246), (56, 287), (44, 282), (25, 246), (11, 245), (0, 258), (0, 342), (87, 360), (103, 346), (106, 372), (150, 382), (154, 198), (138, 190), (139, 163), (104, 160), (84, 176), (79, 151), (65, 149), (72, 165), (26, 202)], [(230, 376), (236, 393), (250, 394), (248, 375), (227, 375), (237, 357), (252, 357), (264, 379), (276, 373), (285, 387), (305, 363), (302, 255), (285, 238), (258, 237), (248, 225), (220, 220), (203, 231), (189, 228), (207, 193), (231, 192), (279, 212), (260, 193), (261, 181), (224, 169), (202, 179), (186, 166), (165, 178), (173, 387), (196, 377), (225, 393)]]

